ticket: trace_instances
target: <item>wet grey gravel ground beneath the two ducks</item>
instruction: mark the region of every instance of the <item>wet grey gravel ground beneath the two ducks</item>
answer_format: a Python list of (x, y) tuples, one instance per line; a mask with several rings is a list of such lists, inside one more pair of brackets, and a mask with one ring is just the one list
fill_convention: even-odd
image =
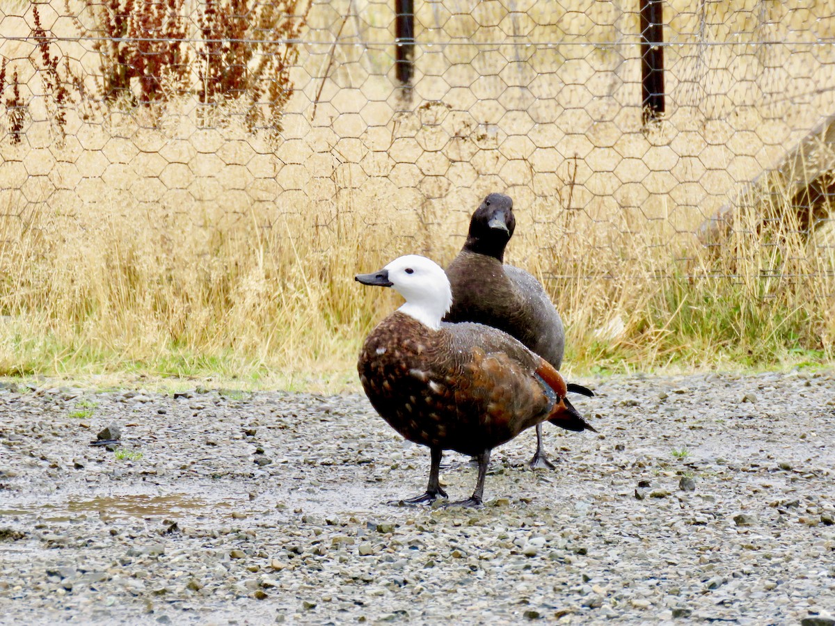
[(835, 623), (832, 373), (578, 382), (600, 435), (531, 472), (525, 432), (461, 509), (386, 503), (429, 454), (362, 396), (7, 381), (0, 622)]

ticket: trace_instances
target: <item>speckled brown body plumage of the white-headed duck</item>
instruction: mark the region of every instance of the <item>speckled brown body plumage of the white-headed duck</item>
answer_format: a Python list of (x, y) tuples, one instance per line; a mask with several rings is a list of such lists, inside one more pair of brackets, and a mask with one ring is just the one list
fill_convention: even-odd
[(540, 365), (489, 326), (432, 331), (397, 312), (367, 337), (358, 369), (372, 406), (403, 437), (476, 456), (549, 418)]

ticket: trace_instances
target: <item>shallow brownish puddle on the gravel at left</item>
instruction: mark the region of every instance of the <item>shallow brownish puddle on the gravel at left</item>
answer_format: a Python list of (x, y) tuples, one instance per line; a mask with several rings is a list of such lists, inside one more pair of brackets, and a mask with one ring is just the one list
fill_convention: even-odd
[(185, 493), (166, 496), (124, 495), (96, 496), (88, 500), (68, 500), (55, 504), (22, 504), (0, 509), (0, 516), (41, 515), (53, 522), (69, 522), (78, 514), (93, 513), (103, 518), (183, 517), (229, 508), (229, 502), (209, 502)]

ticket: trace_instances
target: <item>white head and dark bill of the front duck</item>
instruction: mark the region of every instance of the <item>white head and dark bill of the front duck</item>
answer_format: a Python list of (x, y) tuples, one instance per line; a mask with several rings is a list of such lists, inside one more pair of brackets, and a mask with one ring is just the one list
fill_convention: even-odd
[(382, 270), (357, 274), (364, 285), (392, 287), (406, 299), (398, 310), (437, 331), (453, 305), (453, 290), (447, 273), (433, 260), (420, 255), (401, 256)]

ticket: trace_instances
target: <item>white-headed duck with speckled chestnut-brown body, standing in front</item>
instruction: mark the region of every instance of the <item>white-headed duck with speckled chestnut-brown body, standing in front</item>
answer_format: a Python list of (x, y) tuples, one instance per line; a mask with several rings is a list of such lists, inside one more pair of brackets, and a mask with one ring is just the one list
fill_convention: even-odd
[(545, 421), (595, 431), (566, 400), (559, 371), (541, 356), (493, 327), (442, 323), (453, 295), (432, 260), (402, 256), (356, 280), (393, 287), (406, 299), (367, 336), (357, 363), (362, 387), (382, 418), (432, 452), (426, 493), (402, 502), (446, 497), (438, 479), (444, 450), (478, 459), (473, 496), (457, 502), (477, 506), (494, 447)]

